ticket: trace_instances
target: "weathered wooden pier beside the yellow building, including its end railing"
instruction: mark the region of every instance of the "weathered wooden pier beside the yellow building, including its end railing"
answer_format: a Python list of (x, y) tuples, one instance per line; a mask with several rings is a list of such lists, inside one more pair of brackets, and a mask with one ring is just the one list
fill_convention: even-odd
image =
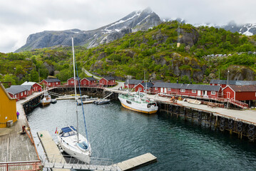
[[(37, 95), (41, 94), (35, 93), (31, 98)], [(0, 129), (0, 170), (41, 170), (41, 161), (23, 108), (26, 101), (16, 102), (19, 120), (11, 128)], [(23, 126), (28, 134), (21, 134)]]

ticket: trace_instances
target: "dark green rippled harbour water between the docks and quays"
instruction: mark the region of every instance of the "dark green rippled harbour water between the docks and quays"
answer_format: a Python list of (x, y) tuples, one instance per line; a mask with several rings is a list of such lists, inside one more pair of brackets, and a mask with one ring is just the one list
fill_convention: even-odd
[[(116, 163), (150, 152), (158, 162), (139, 170), (256, 170), (256, 145), (235, 135), (165, 113), (135, 113), (119, 102), (84, 107), (92, 157), (111, 158)], [(56, 127), (76, 125), (75, 108), (73, 100), (58, 100), (29, 113), (36, 143), (39, 130), (48, 130), (56, 141)], [(82, 115), (79, 123), (85, 135)], [(43, 153), (40, 145), (39, 153)]]

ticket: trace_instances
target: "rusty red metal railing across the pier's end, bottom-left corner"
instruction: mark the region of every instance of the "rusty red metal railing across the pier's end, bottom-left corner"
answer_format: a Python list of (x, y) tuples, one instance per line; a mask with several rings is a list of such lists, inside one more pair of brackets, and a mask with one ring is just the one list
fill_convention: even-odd
[(9, 170), (37, 171), (41, 169), (42, 169), (42, 165), (40, 160), (21, 161), (21, 162), (0, 162), (1, 171), (9, 171)]

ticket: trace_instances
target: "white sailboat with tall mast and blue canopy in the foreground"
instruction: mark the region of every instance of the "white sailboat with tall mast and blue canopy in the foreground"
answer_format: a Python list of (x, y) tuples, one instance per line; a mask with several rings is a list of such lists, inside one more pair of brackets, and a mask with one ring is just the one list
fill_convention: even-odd
[[(72, 37), (72, 51), (73, 51), (73, 75), (74, 75), (73, 78), (76, 78), (73, 37)], [(75, 85), (74, 88), (75, 88), (75, 95), (76, 95), (76, 84), (74, 85)], [(76, 157), (79, 161), (85, 162), (88, 164), (90, 163), (90, 157), (91, 157), (91, 145), (88, 141), (87, 131), (86, 131), (86, 138), (78, 132), (77, 108), (78, 108), (78, 105), (76, 105), (76, 124), (77, 124), (76, 128), (71, 125), (61, 128), (61, 130), (58, 131), (58, 146), (60, 150), (63, 150), (64, 152), (68, 153), (68, 155)]]

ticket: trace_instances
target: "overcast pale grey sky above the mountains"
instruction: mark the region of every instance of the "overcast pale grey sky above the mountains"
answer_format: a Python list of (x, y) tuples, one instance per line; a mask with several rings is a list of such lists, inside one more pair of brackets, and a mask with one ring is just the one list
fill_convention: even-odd
[(255, 6), (255, 0), (2, 0), (0, 52), (20, 48), (31, 33), (92, 30), (147, 7), (161, 19), (179, 17), (190, 24), (255, 24)]

